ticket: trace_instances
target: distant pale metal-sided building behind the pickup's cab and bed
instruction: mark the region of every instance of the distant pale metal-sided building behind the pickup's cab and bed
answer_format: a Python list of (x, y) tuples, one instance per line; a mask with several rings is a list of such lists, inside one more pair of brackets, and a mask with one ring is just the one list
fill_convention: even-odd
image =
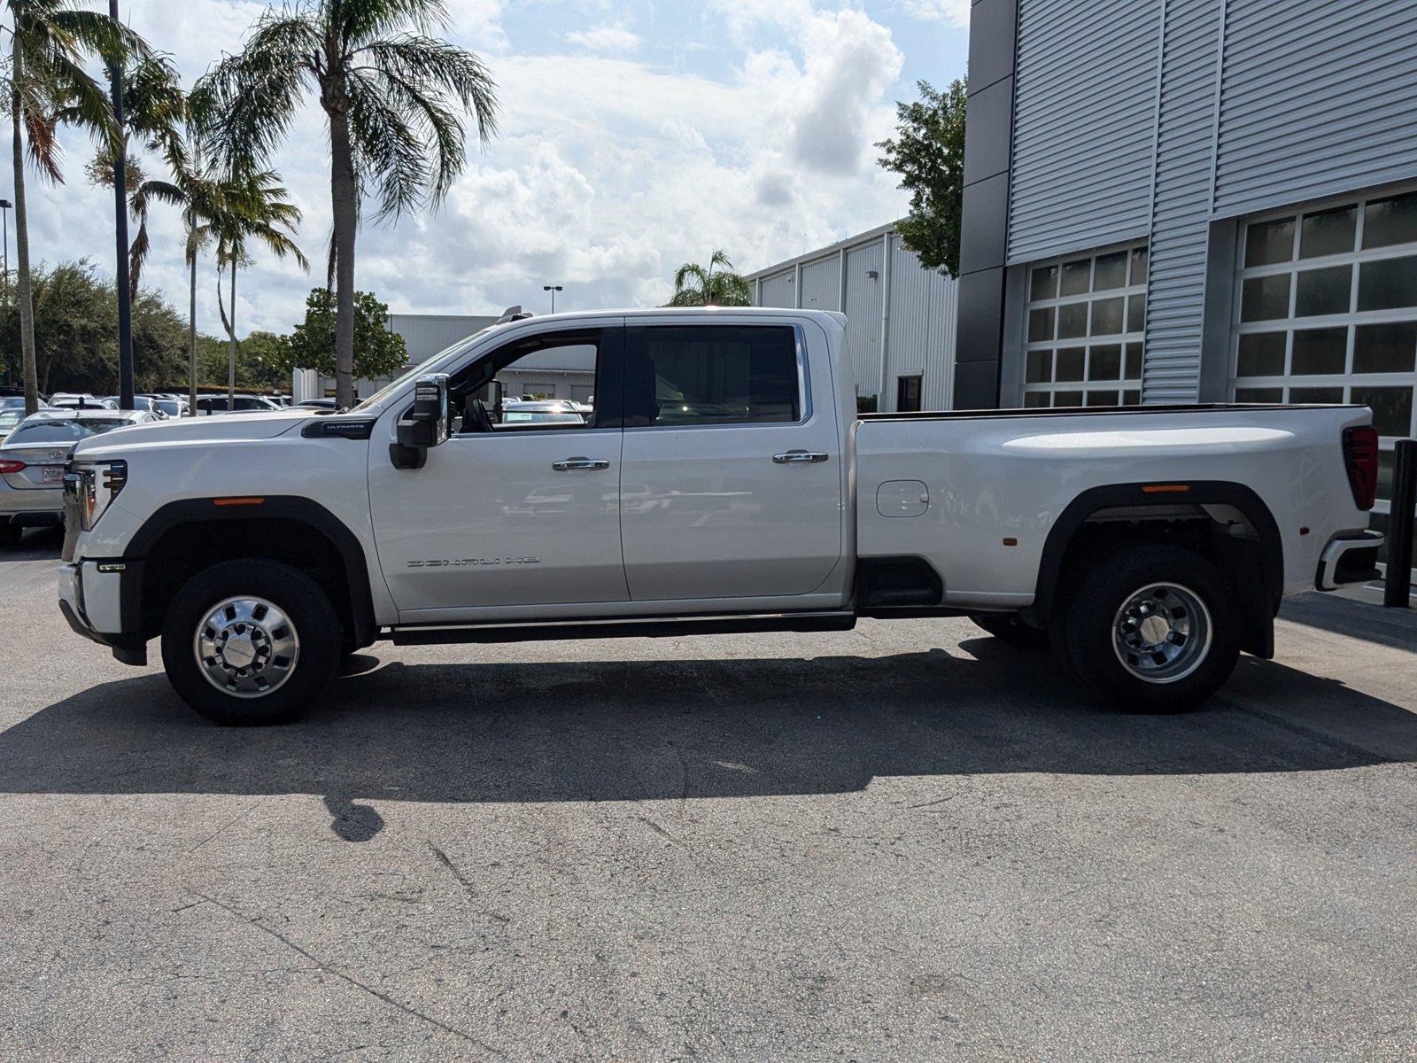
[(758, 306), (846, 313), (864, 410), (947, 410), (954, 390), (956, 283), (925, 269), (894, 225), (750, 274)]

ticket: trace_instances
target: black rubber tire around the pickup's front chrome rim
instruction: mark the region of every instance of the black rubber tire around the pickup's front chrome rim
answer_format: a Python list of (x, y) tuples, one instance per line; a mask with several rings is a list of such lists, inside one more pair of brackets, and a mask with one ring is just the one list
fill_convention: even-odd
[[(238, 697), (220, 690), (198, 665), (198, 625), (224, 600), (249, 595), (281, 609), (298, 634), (299, 653), (271, 693)], [(340, 663), (340, 618), (315, 580), (279, 561), (241, 558), (197, 573), (167, 607), (163, 668), (177, 694), (213, 723), (265, 726), (299, 719), (329, 687)]]

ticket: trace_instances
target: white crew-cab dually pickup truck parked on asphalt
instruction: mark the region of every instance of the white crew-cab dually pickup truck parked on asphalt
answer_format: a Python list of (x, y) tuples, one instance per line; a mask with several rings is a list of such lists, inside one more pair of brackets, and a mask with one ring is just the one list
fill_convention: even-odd
[[(1372, 578), (1363, 407), (856, 411), (845, 319), (512, 316), (344, 412), (81, 442), (60, 605), (198, 713), (275, 723), (398, 643), (840, 631), (969, 615), (1142, 712)], [(516, 376), (506, 376), (514, 373)], [(570, 418), (503, 377), (580, 381)]]

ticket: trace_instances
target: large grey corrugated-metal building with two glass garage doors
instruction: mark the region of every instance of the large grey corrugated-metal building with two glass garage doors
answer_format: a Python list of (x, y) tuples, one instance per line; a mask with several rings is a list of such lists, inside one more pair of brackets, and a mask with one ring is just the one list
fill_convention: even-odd
[[(954, 405), (1417, 390), (1417, 3), (976, 0)], [(1386, 503), (1379, 503), (1386, 512)]]

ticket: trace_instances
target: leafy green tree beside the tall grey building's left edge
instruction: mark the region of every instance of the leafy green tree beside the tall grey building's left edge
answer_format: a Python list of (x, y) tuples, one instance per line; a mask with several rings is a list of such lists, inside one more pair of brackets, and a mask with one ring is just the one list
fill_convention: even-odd
[(880, 164), (910, 191), (901, 242), (927, 269), (959, 274), (959, 215), (965, 190), (965, 82), (938, 92), (918, 82), (920, 99), (896, 105), (896, 137), (881, 140)]

